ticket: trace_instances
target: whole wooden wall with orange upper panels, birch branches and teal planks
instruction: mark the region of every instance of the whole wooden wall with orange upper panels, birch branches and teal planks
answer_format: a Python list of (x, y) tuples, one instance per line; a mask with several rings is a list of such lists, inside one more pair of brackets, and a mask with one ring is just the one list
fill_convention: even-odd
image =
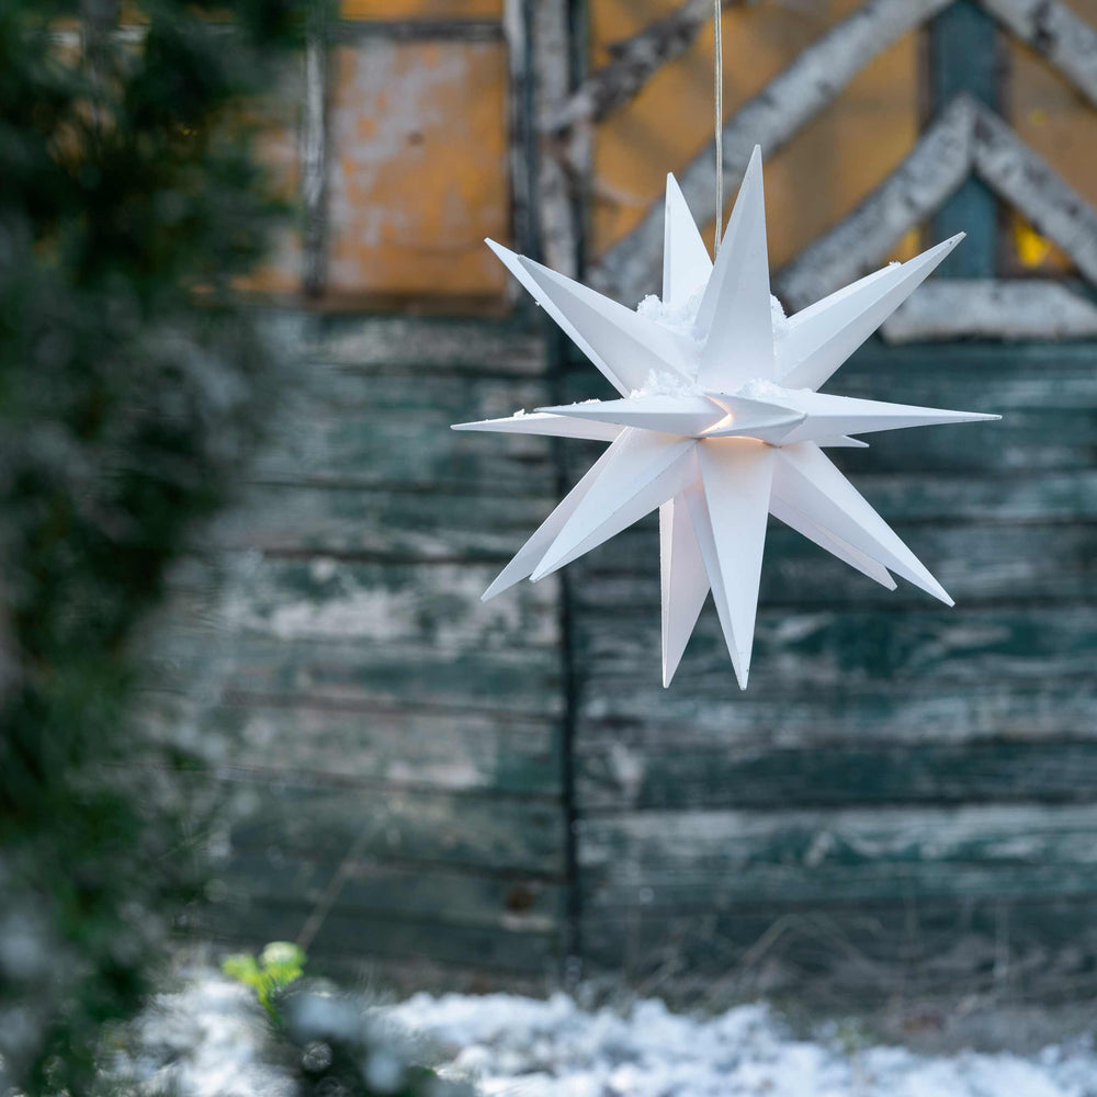
[[(787, 304), (970, 234), (832, 385), (1004, 416), (836, 456), (957, 608), (772, 523), (749, 691), (711, 607), (664, 691), (651, 519), (479, 601), (595, 448), (449, 425), (591, 366), (521, 312), (283, 316), (293, 406), (216, 539), (222, 938), (446, 986), (1097, 989), (1092, 0), (726, 7), (725, 172), (764, 140)], [(712, 208), (710, 11), (343, 4), (259, 284), (502, 313), (489, 233), (634, 303), (666, 168)]]

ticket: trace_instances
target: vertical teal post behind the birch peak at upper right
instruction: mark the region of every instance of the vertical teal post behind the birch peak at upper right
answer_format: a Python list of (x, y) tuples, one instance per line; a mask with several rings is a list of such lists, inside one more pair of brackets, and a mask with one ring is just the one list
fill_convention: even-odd
[[(998, 29), (974, 0), (957, 0), (930, 22), (929, 102), (936, 114), (957, 95), (974, 95), (1002, 110)], [(994, 278), (998, 259), (998, 202), (980, 179), (971, 178), (934, 215), (934, 240), (957, 233), (968, 239), (940, 267), (943, 278)]]

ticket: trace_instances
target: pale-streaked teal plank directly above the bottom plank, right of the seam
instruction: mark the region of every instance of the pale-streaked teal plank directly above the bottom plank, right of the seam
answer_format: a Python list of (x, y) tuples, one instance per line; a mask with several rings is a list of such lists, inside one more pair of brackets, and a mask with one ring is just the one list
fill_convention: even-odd
[(648, 811), (583, 821), (585, 909), (1097, 895), (1097, 805)]

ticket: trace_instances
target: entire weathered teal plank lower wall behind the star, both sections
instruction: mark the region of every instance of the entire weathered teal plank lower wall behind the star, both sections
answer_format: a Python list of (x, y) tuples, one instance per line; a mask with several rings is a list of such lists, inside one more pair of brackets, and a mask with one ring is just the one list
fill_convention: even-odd
[(830, 391), (1005, 416), (835, 452), (958, 607), (771, 523), (740, 693), (711, 607), (659, 687), (652, 519), (479, 602), (598, 446), (448, 425), (604, 395), (589, 365), (557, 385), (540, 336), (496, 324), (305, 343), (213, 538), (240, 567), (208, 931), (292, 939), (338, 879), (316, 962), (432, 985), (535, 987), (578, 946), (665, 989), (1087, 986), (1097, 349), (866, 347)]

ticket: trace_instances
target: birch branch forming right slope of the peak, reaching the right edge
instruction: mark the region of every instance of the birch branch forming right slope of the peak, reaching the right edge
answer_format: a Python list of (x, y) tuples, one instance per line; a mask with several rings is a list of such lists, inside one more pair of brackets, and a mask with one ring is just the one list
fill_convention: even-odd
[(1038, 231), (1054, 240), (1090, 282), (1097, 282), (1097, 211), (1002, 118), (983, 108), (975, 120), (975, 170)]

